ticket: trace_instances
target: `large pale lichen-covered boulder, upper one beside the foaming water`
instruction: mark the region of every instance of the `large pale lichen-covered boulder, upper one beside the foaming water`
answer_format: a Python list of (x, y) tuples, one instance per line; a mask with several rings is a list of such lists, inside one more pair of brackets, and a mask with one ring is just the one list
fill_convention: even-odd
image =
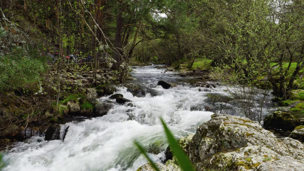
[(193, 163), (203, 161), (223, 148), (226, 150), (256, 145), (275, 148), (277, 138), (256, 121), (247, 118), (213, 114), (211, 120), (200, 125), (189, 144), (189, 158)]

